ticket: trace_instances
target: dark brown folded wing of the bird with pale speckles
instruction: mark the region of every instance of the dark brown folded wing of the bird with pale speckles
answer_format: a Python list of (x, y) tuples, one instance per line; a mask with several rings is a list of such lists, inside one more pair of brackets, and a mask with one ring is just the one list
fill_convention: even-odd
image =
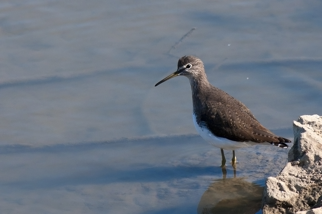
[[(218, 137), (241, 142), (269, 142), (272, 144), (290, 142), (286, 138), (276, 136), (262, 126), (241, 102), (238, 105), (234, 102), (233, 106), (220, 102), (208, 103), (199, 116), (208, 129)], [(285, 146), (287, 145), (285, 144)]]

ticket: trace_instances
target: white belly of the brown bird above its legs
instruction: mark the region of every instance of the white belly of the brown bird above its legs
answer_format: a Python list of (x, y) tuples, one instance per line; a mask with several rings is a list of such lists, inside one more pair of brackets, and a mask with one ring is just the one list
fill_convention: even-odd
[(247, 146), (251, 146), (257, 143), (254, 142), (237, 142), (237, 141), (231, 141), (226, 138), (222, 137), (216, 137), (211, 133), (208, 128), (205, 126), (199, 126), (196, 121), (196, 116), (193, 114), (193, 120), (194, 120), (194, 127), (196, 128), (197, 132), (200, 134), (202, 138), (204, 138), (205, 141), (210, 143), (211, 145), (222, 148), (224, 150), (235, 150)]

